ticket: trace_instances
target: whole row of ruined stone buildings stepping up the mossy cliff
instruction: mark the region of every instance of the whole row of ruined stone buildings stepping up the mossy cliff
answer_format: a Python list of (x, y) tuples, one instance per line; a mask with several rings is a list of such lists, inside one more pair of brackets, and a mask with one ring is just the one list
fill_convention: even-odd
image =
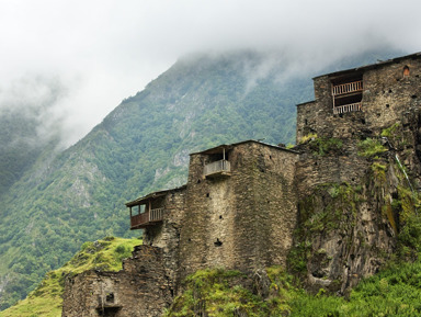
[(294, 149), (192, 154), (186, 185), (126, 204), (144, 246), (121, 272), (68, 279), (62, 316), (161, 316), (205, 268), (280, 264), (340, 294), (375, 273), (396, 248), (401, 201), (421, 188), (420, 75), (414, 54), (317, 77)]

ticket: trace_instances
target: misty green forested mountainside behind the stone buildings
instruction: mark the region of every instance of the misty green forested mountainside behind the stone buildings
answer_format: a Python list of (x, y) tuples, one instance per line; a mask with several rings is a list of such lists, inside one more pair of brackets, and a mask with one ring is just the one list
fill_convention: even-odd
[[(391, 55), (365, 53), (334, 69)], [(189, 152), (250, 138), (293, 143), (295, 105), (312, 99), (316, 73), (284, 78), (287, 65), (265, 68), (266, 57), (237, 52), (180, 59), (54, 160), (46, 159), (52, 147), (27, 151), (29, 168), (16, 165), (22, 174), (2, 186), (0, 309), (84, 241), (133, 235), (124, 203), (184, 183)]]

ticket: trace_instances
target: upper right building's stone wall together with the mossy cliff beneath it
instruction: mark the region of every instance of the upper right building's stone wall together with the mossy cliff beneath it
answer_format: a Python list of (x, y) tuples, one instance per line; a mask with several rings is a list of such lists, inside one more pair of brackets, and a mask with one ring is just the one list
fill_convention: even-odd
[[(362, 111), (334, 115), (332, 81), (354, 72), (363, 78)], [(309, 288), (344, 293), (394, 252), (402, 212), (394, 201), (399, 188), (409, 190), (397, 158), (421, 188), (420, 75), (417, 55), (321, 76), (315, 79), (316, 100), (297, 106), (297, 143), (309, 135), (343, 143), (340, 150), (321, 156), (311, 141), (298, 147), (299, 220), (291, 262), (306, 262)], [(361, 140), (380, 139), (382, 133), (388, 138), (382, 139), (387, 152), (359, 155)]]

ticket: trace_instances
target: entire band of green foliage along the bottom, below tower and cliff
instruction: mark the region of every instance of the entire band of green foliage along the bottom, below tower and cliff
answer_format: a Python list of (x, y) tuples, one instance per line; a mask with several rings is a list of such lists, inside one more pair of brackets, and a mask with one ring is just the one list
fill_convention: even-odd
[[(363, 280), (349, 298), (309, 294), (294, 283), (282, 268), (268, 268), (266, 296), (246, 286), (230, 285), (238, 273), (224, 270), (198, 271), (186, 280), (186, 290), (164, 316), (419, 316), (421, 314), (421, 261), (399, 262)], [(242, 283), (246, 278), (243, 276)], [(250, 279), (250, 278), (249, 278)], [(249, 285), (252, 281), (248, 281)]]

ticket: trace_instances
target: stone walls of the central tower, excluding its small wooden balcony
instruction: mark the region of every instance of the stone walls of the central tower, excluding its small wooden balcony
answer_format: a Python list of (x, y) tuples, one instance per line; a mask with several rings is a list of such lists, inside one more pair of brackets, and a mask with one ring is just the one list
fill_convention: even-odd
[(180, 278), (223, 267), (248, 272), (285, 264), (296, 224), (298, 154), (247, 141), (227, 152), (231, 176), (206, 179), (207, 154), (191, 156)]

